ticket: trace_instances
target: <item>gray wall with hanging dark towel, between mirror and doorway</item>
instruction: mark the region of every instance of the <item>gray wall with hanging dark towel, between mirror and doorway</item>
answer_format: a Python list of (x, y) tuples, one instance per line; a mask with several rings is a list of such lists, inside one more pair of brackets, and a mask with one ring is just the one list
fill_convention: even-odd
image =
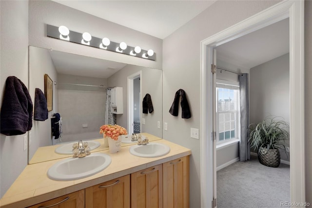
[[(200, 42), (278, 1), (216, 1), (193, 20), (163, 40), (163, 138), (192, 150), (190, 158), (190, 205), (200, 207), (200, 140), (190, 138), (190, 127), (200, 127)], [(185, 43), (188, 44), (185, 44)], [(176, 90), (184, 89), (192, 118), (182, 119), (168, 111)], [(199, 135), (201, 136), (201, 135)]]

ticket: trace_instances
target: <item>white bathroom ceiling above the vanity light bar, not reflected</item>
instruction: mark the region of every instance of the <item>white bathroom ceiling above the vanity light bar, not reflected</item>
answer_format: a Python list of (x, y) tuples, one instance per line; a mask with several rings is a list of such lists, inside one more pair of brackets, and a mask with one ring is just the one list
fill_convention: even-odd
[(53, 0), (164, 39), (216, 0)]

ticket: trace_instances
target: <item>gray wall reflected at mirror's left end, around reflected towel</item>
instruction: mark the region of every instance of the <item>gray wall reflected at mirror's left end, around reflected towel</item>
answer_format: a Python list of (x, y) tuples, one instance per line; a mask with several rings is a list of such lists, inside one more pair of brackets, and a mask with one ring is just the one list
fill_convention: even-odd
[[(33, 103), (35, 102), (35, 88), (41, 89), (44, 93), (44, 74), (48, 74), (53, 82), (58, 82), (57, 71), (49, 51), (43, 48), (29, 47), (29, 93)], [(29, 131), (29, 158), (31, 159), (39, 146), (52, 145), (51, 141), (51, 120), (50, 117), (58, 112), (58, 91), (53, 85), (53, 109), (48, 112), (48, 119), (45, 121), (33, 120), (33, 127)]]

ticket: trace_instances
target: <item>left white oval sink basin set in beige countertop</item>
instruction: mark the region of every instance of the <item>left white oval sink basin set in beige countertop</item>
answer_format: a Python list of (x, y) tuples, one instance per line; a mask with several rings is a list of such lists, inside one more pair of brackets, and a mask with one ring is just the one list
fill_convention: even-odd
[(112, 162), (109, 155), (91, 153), (82, 158), (68, 158), (51, 166), (47, 172), (50, 179), (56, 181), (71, 181), (94, 175)]

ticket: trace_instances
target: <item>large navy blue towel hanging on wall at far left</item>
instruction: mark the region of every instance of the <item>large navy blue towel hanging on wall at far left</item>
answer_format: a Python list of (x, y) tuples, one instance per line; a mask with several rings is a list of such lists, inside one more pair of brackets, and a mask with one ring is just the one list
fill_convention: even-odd
[(6, 136), (20, 135), (33, 126), (33, 103), (28, 89), (17, 77), (6, 79), (0, 112), (0, 132)]

